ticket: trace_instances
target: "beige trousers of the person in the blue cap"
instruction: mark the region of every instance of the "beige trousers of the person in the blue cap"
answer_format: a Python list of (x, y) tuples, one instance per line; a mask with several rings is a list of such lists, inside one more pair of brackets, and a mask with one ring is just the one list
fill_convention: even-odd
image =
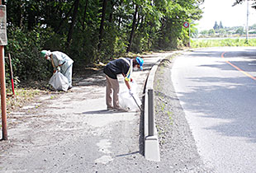
[[(106, 75), (107, 91), (106, 91), (106, 103), (107, 109), (120, 109), (119, 105), (119, 82), (117, 79), (112, 79)], [(112, 105), (112, 91), (113, 91), (113, 105)]]

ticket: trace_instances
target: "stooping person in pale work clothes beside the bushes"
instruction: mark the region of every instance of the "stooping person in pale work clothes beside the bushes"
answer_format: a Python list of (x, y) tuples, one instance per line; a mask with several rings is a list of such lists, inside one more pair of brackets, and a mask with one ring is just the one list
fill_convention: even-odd
[(50, 52), (50, 50), (42, 50), (41, 58), (46, 58), (51, 61), (54, 72), (60, 71), (69, 81), (69, 89), (72, 88), (72, 68), (73, 60), (67, 54), (59, 51)]

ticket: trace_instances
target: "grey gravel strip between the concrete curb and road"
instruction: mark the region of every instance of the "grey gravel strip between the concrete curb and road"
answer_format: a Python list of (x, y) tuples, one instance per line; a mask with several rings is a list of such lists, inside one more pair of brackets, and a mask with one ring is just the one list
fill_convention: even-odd
[(154, 78), (155, 123), (159, 133), (161, 162), (168, 172), (213, 172), (203, 164), (183, 108), (173, 89), (173, 58), (165, 58)]

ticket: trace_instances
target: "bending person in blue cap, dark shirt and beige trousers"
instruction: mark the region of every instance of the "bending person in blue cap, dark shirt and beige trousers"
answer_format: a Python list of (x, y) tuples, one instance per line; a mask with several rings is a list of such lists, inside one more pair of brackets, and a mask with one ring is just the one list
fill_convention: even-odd
[[(118, 58), (113, 60), (104, 67), (103, 72), (106, 74), (107, 80), (107, 91), (106, 91), (106, 103), (107, 110), (123, 110), (119, 105), (119, 83), (117, 80), (117, 74), (122, 74), (125, 77), (126, 86), (128, 87), (130, 94), (132, 95), (132, 91), (130, 90), (129, 82), (131, 79), (131, 72), (133, 68), (143, 69), (143, 59), (140, 57), (136, 58)], [(113, 91), (113, 103), (111, 99), (111, 94)]]

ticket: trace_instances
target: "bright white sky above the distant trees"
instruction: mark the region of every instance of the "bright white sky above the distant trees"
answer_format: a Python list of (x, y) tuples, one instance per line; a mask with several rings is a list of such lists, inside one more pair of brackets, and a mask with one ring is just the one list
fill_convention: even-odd
[[(210, 30), (213, 28), (215, 22), (222, 26), (246, 26), (247, 20), (247, 2), (238, 4), (232, 7), (235, 0), (205, 0), (200, 6), (203, 10), (200, 21), (195, 21), (198, 24), (197, 29)], [(249, 1), (249, 4), (252, 2)], [(256, 24), (256, 10), (249, 7), (249, 26)]]

